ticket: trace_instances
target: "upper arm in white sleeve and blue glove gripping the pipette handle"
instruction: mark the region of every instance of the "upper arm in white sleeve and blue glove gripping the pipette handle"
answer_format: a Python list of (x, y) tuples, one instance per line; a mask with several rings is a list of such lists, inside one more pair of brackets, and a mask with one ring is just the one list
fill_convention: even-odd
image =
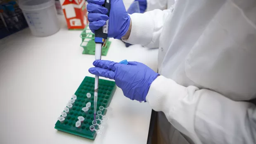
[(108, 10), (102, 7), (104, 0), (87, 1), (89, 28), (93, 33), (108, 21), (108, 37), (117, 39), (123, 37), (123, 40), (131, 44), (159, 47), (159, 37), (163, 24), (171, 10), (155, 9), (144, 14), (128, 15), (123, 0), (111, 0), (108, 17), (106, 15)]

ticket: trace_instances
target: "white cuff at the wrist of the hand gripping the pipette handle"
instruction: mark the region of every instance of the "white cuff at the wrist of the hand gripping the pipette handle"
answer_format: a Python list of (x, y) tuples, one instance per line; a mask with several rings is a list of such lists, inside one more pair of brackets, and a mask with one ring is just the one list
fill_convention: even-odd
[(153, 38), (154, 21), (148, 14), (134, 13), (130, 15), (132, 28), (128, 39), (124, 42), (130, 44), (148, 45)]

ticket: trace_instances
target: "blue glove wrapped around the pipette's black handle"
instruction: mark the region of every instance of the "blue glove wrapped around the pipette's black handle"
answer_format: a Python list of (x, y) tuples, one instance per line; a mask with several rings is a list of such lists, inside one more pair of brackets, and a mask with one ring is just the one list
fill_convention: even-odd
[(109, 17), (107, 9), (102, 7), (104, 0), (87, 0), (89, 28), (92, 33), (106, 24), (109, 19), (108, 37), (120, 39), (129, 29), (130, 16), (126, 12), (123, 0), (110, 0)]

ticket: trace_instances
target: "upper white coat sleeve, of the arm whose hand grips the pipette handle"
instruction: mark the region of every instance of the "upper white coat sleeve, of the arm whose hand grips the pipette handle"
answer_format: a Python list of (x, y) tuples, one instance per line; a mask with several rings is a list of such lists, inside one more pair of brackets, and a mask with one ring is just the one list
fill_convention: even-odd
[(130, 15), (132, 27), (130, 37), (123, 41), (130, 44), (140, 44), (149, 48), (159, 47), (159, 37), (163, 24), (171, 13), (170, 9), (155, 9), (144, 14), (134, 13)]

